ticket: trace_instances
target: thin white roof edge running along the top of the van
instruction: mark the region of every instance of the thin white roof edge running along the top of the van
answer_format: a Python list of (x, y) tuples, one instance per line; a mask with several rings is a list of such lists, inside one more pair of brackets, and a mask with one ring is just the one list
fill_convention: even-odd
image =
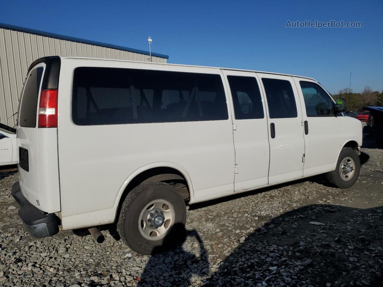
[(222, 68), (222, 67), (209, 67), (209, 66), (197, 66), (197, 65), (183, 65), (183, 64), (170, 64), (170, 63), (157, 63), (157, 62), (144, 62), (144, 61), (133, 61), (133, 60), (119, 60), (119, 59), (103, 59), (103, 58), (90, 58), (90, 57), (61, 57), (61, 59), (75, 59), (75, 60), (103, 60), (103, 61), (113, 61), (113, 62), (132, 62), (132, 63), (143, 63), (143, 64), (152, 64), (152, 65), (165, 65), (165, 66), (182, 66), (182, 67), (197, 67), (197, 68), (214, 68), (214, 69), (221, 69), (221, 70), (230, 70), (230, 71), (242, 71), (242, 72), (256, 72), (256, 73), (265, 73), (265, 74), (272, 74), (272, 75), (283, 75), (283, 76), (289, 76), (289, 77), (298, 77), (298, 78), (304, 78), (313, 80), (315, 82), (318, 82), (314, 78), (310, 77), (304, 77), (304, 76), (298, 76), (298, 75), (291, 75), (291, 74), (284, 74), (284, 73), (273, 73), (273, 72), (265, 72), (265, 71), (256, 71), (256, 70), (246, 70), (246, 69), (235, 69), (235, 68)]

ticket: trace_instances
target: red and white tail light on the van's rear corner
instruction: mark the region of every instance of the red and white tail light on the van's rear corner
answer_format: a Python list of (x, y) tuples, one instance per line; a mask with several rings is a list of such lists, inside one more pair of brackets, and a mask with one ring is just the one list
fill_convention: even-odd
[(41, 90), (38, 127), (57, 127), (57, 95), (59, 90)]

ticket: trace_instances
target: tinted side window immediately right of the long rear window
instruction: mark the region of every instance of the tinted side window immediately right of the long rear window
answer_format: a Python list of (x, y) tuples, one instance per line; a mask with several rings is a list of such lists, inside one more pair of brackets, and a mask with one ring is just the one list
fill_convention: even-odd
[(262, 96), (254, 77), (228, 76), (236, 119), (263, 119)]

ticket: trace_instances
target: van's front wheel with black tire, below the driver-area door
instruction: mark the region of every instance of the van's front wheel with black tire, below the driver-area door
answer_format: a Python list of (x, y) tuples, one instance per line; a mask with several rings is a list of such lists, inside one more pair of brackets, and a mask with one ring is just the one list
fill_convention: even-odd
[(358, 180), (359, 173), (360, 160), (357, 153), (345, 147), (340, 151), (335, 170), (327, 173), (326, 178), (338, 188), (350, 188)]

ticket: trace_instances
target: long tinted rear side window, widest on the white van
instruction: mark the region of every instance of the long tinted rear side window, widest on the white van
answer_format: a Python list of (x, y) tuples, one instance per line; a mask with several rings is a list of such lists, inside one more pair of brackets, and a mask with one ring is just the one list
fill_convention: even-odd
[(74, 71), (72, 119), (77, 125), (228, 118), (219, 75), (99, 67)]

